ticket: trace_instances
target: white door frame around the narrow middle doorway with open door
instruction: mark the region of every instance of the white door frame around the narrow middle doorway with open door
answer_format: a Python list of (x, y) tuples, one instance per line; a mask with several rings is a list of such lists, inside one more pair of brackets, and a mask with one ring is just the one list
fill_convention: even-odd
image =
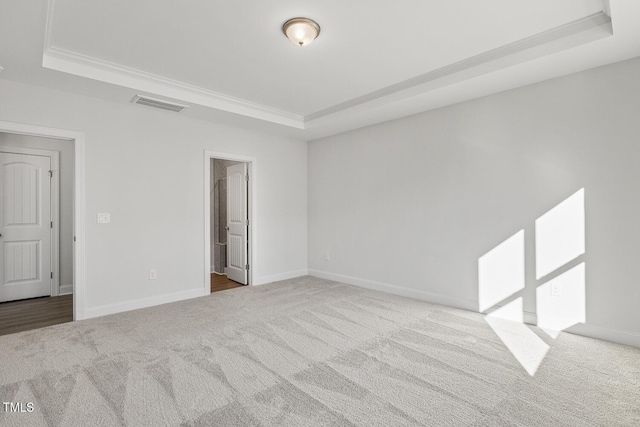
[(257, 217), (258, 217), (258, 193), (255, 185), (258, 176), (258, 161), (256, 157), (243, 154), (226, 153), (221, 151), (204, 150), (204, 295), (211, 294), (211, 159), (233, 160), (247, 164), (247, 175), (249, 175), (249, 188), (247, 215), (249, 216), (249, 227), (247, 230), (247, 264), (249, 273), (247, 274), (248, 285), (255, 284), (254, 272), (257, 264)]

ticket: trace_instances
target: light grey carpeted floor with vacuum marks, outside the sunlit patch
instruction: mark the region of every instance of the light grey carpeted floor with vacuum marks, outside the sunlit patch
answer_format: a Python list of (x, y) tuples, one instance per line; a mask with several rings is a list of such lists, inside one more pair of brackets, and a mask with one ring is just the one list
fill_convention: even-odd
[[(312, 277), (0, 337), (0, 425), (632, 426), (640, 349)], [(26, 408), (26, 407), (25, 407)], [(26, 409), (25, 409), (26, 410)]]

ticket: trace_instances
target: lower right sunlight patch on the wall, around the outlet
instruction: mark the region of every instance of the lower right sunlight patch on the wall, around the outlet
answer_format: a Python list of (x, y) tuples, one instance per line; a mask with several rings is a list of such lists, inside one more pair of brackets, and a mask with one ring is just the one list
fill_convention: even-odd
[(536, 289), (538, 326), (552, 338), (560, 331), (586, 321), (585, 264)]

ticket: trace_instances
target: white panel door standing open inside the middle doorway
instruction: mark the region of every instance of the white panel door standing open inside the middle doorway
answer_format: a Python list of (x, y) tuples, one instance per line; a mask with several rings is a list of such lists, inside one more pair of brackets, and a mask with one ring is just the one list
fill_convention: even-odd
[(227, 277), (247, 284), (247, 165), (227, 168)]

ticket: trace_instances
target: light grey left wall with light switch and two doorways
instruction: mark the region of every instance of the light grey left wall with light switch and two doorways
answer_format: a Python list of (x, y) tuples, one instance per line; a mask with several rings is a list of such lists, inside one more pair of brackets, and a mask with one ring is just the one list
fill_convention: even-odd
[(7, 80), (0, 100), (0, 120), (85, 132), (88, 316), (204, 289), (205, 149), (257, 158), (255, 282), (306, 272), (304, 142)]

